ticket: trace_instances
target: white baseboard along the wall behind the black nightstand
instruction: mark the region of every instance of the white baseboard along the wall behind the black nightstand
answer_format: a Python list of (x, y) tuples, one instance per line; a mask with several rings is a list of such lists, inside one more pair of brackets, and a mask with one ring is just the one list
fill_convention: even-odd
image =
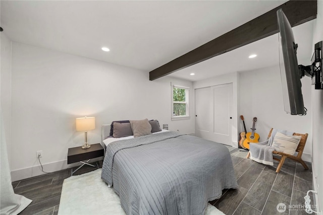
[[(103, 157), (91, 159), (91, 162), (100, 161), (100, 160), (103, 160)], [(63, 161), (57, 161), (57, 162), (52, 162), (48, 164), (42, 164), (42, 166), (45, 172), (56, 172), (56, 171), (65, 170), (71, 167), (80, 166), (80, 163), (77, 162), (74, 164), (67, 164), (67, 160), (63, 160)], [(38, 166), (11, 171), (11, 181), (19, 181), (22, 179), (31, 178), (31, 177), (43, 175), (43, 174), (46, 174), (46, 173), (41, 171), (41, 165), (39, 164)]]

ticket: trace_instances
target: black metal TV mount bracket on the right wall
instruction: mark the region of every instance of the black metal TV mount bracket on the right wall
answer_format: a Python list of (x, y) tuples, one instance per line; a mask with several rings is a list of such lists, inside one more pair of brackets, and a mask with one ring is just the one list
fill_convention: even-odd
[(311, 65), (298, 65), (300, 78), (308, 76), (312, 79), (312, 85), (315, 89), (323, 89), (323, 76), (322, 76), (322, 41), (314, 45), (314, 53), (311, 59)]

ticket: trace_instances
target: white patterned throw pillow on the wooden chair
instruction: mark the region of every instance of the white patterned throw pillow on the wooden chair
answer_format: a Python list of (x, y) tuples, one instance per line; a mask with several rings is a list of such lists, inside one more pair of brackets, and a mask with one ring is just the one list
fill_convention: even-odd
[(277, 152), (294, 155), (301, 138), (302, 136), (288, 136), (283, 133), (277, 132), (274, 137), (272, 147), (275, 148), (275, 151)]

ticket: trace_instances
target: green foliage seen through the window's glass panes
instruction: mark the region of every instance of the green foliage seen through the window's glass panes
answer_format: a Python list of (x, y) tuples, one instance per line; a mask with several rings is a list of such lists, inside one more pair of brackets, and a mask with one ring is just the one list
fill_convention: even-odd
[(186, 115), (186, 90), (173, 88), (174, 116)]

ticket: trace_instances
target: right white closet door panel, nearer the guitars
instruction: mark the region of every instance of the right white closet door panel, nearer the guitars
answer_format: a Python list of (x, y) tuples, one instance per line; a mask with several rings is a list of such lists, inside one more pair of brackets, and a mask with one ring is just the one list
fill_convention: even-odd
[(232, 83), (211, 87), (212, 140), (232, 146)]

